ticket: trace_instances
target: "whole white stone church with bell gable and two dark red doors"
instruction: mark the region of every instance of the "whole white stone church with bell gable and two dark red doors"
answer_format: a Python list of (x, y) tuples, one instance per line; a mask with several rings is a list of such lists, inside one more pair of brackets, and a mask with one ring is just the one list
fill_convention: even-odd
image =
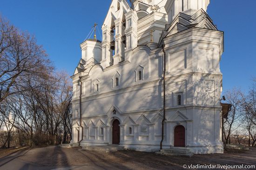
[(81, 43), (71, 144), (223, 153), (223, 32), (210, 0), (112, 0), (102, 42)]

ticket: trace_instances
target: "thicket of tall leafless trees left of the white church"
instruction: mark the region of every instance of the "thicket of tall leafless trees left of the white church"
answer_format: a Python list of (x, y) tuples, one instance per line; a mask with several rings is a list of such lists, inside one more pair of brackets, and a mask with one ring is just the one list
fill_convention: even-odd
[(0, 17), (0, 127), (8, 127), (1, 146), (14, 133), (29, 146), (69, 142), (72, 95), (69, 76), (54, 72), (36, 39)]

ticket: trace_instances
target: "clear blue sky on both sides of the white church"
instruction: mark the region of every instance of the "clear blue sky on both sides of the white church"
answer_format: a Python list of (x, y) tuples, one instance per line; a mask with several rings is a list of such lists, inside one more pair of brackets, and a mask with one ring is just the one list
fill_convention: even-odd
[[(0, 13), (36, 36), (57, 70), (72, 75), (80, 43), (94, 22), (101, 27), (111, 0), (1, 0)], [(247, 90), (256, 77), (256, 0), (211, 0), (208, 14), (224, 31), (223, 90)]]

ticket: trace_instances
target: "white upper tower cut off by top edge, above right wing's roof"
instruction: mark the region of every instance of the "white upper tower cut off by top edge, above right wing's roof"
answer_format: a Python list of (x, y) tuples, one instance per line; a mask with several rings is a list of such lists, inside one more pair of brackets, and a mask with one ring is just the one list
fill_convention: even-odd
[(170, 24), (178, 13), (185, 13), (192, 16), (199, 9), (205, 12), (210, 0), (167, 0), (165, 10), (168, 13), (168, 23)]

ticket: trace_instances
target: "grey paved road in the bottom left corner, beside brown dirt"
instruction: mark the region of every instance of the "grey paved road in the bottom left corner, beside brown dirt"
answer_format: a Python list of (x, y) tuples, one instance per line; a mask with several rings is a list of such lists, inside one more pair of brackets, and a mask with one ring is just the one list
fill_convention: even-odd
[(29, 150), (30, 149), (20, 150), (7, 157), (0, 158), (0, 170), (119, 170), (115, 167), (100, 167), (95, 165), (47, 167), (19, 158), (25, 155)]

